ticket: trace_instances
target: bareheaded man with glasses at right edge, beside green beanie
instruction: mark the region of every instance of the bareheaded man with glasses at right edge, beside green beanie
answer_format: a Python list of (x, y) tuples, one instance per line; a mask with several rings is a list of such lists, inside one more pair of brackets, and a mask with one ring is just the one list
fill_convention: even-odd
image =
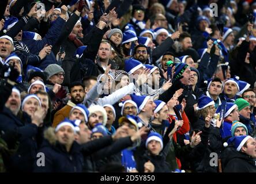
[(255, 92), (253, 89), (247, 89), (242, 94), (243, 99), (245, 99), (250, 104), (250, 120), (253, 121), (254, 125), (256, 124), (256, 116), (254, 112), (254, 106), (256, 105)]

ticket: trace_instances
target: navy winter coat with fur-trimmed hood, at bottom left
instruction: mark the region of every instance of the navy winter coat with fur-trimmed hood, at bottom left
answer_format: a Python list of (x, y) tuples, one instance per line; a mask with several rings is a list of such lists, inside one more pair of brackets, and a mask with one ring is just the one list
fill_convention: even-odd
[(70, 151), (67, 152), (65, 145), (56, 140), (53, 128), (47, 129), (42, 147), (38, 151), (44, 154), (44, 166), (34, 163), (33, 171), (36, 173), (74, 173), (82, 172), (83, 157), (80, 145), (74, 141)]

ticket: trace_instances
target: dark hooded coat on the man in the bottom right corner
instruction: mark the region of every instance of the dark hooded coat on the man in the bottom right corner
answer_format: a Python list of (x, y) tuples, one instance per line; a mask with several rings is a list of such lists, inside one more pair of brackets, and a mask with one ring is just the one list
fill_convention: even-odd
[(256, 173), (256, 163), (250, 156), (227, 147), (221, 154), (224, 173)]

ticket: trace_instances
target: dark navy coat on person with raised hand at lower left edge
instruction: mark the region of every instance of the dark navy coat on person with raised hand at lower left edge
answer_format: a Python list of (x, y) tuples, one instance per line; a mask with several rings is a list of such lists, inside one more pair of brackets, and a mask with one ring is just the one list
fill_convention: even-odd
[(10, 158), (9, 171), (31, 172), (36, 159), (36, 134), (37, 126), (31, 123), (28, 114), (24, 113), (25, 121), (20, 121), (17, 116), (7, 108), (0, 113), (0, 131), (14, 131), (20, 135), (20, 146), (16, 154)]

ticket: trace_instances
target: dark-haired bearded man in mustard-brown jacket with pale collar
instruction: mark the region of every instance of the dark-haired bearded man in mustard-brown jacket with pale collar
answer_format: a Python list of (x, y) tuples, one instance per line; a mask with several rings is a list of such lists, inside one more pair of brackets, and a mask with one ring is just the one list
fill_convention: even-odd
[(64, 106), (61, 110), (58, 110), (54, 114), (54, 121), (52, 123), (53, 127), (57, 127), (59, 122), (63, 121), (65, 118), (69, 118), (70, 110), (77, 104), (81, 104), (84, 101), (84, 85), (80, 82), (73, 82), (69, 86), (70, 91), (70, 100), (67, 102), (67, 105)]

